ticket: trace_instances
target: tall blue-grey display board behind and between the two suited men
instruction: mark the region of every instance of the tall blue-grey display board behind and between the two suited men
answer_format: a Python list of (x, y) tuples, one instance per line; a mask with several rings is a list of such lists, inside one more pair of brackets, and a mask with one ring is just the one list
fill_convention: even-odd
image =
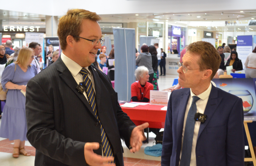
[(118, 100), (131, 100), (135, 82), (135, 29), (113, 28), (115, 48), (115, 91)]

